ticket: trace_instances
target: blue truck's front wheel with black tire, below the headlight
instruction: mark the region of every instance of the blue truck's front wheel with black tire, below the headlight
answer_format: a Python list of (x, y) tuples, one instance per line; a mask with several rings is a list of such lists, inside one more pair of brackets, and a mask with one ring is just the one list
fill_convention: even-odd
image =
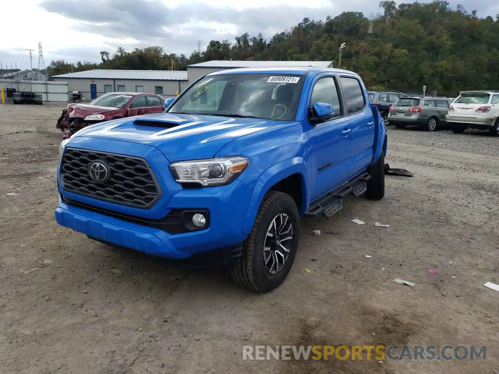
[[(291, 238), (287, 239), (289, 243), (285, 247), (289, 252), (281, 267), (278, 268), (281, 257), (275, 254), (274, 249), (280, 249), (283, 252), (282, 254), (285, 255), (282, 246), (286, 244), (277, 247), (275, 242), (272, 241), (275, 236), (269, 237), (267, 234), (273, 232), (275, 235), (275, 231), (280, 228), (281, 218), (287, 223), (284, 223), (284, 232), (280, 235), (280, 239), (283, 239), (282, 235), (287, 235), (285, 230), (289, 228), (289, 223), (291, 224), (292, 235), (286, 236), (291, 236)], [(273, 226), (274, 221), (277, 227)], [(298, 250), (299, 225), (298, 208), (291, 196), (284, 192), (268, 191), (260, 204), (250, 235), (243, 243), (243, 253), (240, 260), (231, 269), (234, 280), (255, 292), (269, 292), (284, 282)], [(267, 248), (265, 245), (268, 245), (270, 250), (265, 251), (264, 248)], [(276, 258), (279, 261), (274, 266)], [(265, 259), (268, 260), (267, 264), (265, 264)], [(272, 273), (272, 271), (275, 272)]]

